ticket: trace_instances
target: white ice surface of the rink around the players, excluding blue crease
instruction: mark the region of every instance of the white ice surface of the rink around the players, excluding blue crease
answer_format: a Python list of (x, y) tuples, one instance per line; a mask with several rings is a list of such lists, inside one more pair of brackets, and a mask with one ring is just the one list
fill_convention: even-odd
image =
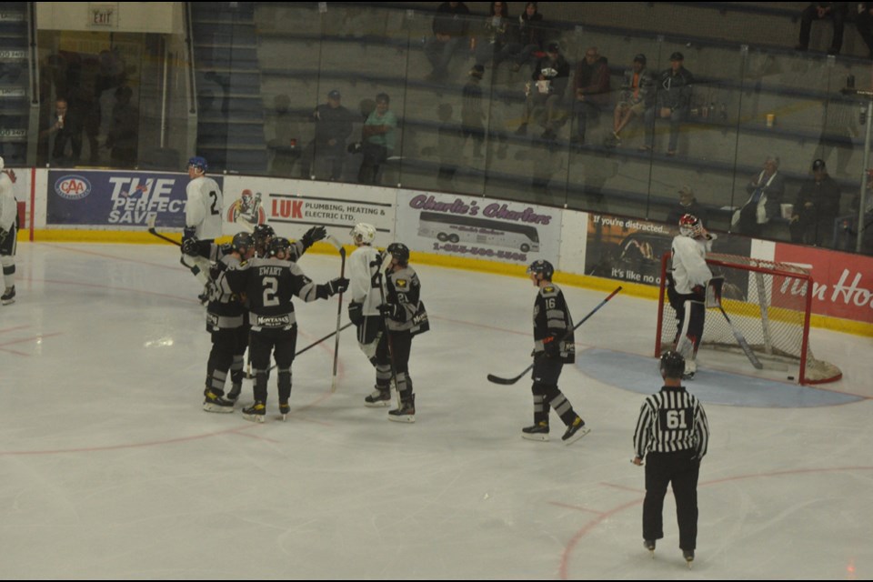
[[(338, 234), (337, 234), (338, 236)], [(535, 289), (521, 277), (416, 265), (431, 331), (410, 373), (416, 423), (363, 398), (373, 372), (348, 331), (294, 364), (292, 415), (201, 409), (200, 288), (169, 245), (18, 247), (0, 307), (0, 577), (873, 578), (873, 338), (815, 329), (844, 378), (821, 388), (699, 361), (689, 389), (712, 438), (697, 560), (675, 506), (642, 547), (644, 469), (629, 463), (654, 302), (619, 294), (577, 330), (560, 386), (592, 432), (520, 437), (532, 419)], [(415, 255), (413, 255), (415, 261)], [(339, 257), (308, 254), (317, 282)], [(579, 321), (607, 293), (564, 286)], [(298, 349), (336, 327), (336, 298), (297, 302)], [(343, 321), (347, 321), (345, 307)], [(748, 369), (746, 369), (748, 368)]]

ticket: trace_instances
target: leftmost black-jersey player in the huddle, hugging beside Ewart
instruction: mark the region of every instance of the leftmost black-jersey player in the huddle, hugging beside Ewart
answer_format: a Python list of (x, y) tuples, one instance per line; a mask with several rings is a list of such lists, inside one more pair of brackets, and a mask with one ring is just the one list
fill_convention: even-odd
[[(206, 389), (203, 409), (206, 412), (233, 412), (234, 400), (239, 396), (243, 383), (243, 354), (248, 345), (246, 308), (226, 280), (226, 270), (238, 266), (255, 252), (255, 245), (248, 233), (238, 233), (229, 245), (216, 245), (212, 241), (197, 241), (187, 238), (182, 252), (188, 256), (208, 259), (209, 269), (206, 284), (206, 331), (212, 335), (212, 349), (206, 363)], [(233, 387), (225, 397), (228, 371)]]

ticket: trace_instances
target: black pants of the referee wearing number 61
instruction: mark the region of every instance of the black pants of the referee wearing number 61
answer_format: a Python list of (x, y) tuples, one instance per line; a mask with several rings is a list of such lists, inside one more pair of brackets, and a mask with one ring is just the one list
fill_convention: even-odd
[(673, 486), (679, 547), (697, 547), (697, 476), (700, 461), (694, 450), (676, 453), (649, 453), (646, 456), (646, 500), (643, 502), (643, 539), (664, 537), (664, 496)]

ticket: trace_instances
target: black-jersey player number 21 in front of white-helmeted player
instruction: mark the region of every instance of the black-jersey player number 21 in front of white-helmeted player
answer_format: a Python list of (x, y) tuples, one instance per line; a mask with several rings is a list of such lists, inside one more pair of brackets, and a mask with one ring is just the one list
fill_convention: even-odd
[[(385, 303), (379, 311), (385, 316), (387, 342), (376, 346), (376, 360), (391, 362), (400, 405), (388, 411), (388, 420), (416, 421), (416, 395), (409, 376), (409, 353), (412, 338), (429, 329), (425, 306), (421, 301), (421, 283), (416, 270), (409, 266), (409, 248), (392, 243), (386, 248), (391, 263), (385, 271)], [(386, 350), (388, 353), (386, 353)]]

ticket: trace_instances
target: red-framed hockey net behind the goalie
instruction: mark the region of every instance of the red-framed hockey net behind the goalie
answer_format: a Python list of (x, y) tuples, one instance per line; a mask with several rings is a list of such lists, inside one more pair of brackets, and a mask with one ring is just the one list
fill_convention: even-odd
[[(721, 305), (762, 363), (799, 366), (800, 384), (835, 382), (842, 377), (837, 366), (816, 359), (809, 346), (813, 282), (808, 269), (717, 254), (707, 255), (707, 264), (713, 276), (724, 276)], [(677, 332), (676, 313), (667, 300), (668, 268), (669, 253), (661, 259), (656, 355), (673, 347)], [(743, 354), (727, 319), (717, 308), (707, 309), (700, 349)]]

